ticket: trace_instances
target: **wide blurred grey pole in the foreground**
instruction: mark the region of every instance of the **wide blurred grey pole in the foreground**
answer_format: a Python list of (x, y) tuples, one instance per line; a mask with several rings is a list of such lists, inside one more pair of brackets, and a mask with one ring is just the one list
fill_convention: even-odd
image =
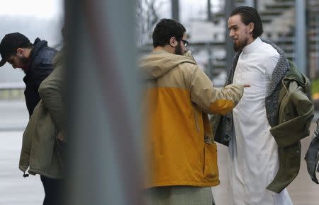
[(135, 1), (65, 1), (67, 203), (141, 205)]

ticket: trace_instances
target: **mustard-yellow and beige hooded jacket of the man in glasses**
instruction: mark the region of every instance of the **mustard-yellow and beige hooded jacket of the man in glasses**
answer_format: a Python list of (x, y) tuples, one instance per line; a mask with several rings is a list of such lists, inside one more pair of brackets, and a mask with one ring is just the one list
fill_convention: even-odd
[(215, 143), (205, 142), (204, 136), (212, 137), (212, 133), (203, 110), (229, 112), (240, 89), (213, 88), (191, 57), (155, 51), (141, 62), (152, 175), (147, 187), (218, 185), (217, 148)]

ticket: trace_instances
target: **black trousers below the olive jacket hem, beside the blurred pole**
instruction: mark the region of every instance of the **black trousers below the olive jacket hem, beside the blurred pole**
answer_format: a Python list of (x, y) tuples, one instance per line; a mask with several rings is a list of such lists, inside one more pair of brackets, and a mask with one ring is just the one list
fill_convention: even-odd
[(62, 180), (50, 179), (40, 176), (45, 189), (45, 199), (43, 205), (62, 205), (63, 183)]

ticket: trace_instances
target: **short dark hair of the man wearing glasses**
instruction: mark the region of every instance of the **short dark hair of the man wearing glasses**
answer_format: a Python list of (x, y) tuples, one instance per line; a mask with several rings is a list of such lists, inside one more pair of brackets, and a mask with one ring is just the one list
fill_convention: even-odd
[(186, 29), (181, 23), (172, 19), (162, 18), (155, 26), (152, 35), (153, 47), (168, 45), (171, 37), (181, 40), (185, 32)]

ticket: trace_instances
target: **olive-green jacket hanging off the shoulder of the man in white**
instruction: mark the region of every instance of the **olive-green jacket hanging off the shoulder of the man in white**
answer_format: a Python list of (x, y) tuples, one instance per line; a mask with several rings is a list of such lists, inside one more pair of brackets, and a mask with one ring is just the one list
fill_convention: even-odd
[(309, 135), (313, 102), (307, 94), (310, 81), (289, 61), (279, 92), (278, 125), (270, 129), (279, 148), (279, 170), (267, 189), (281, 192), (298, 175), (301, 163), (300, 140)]

